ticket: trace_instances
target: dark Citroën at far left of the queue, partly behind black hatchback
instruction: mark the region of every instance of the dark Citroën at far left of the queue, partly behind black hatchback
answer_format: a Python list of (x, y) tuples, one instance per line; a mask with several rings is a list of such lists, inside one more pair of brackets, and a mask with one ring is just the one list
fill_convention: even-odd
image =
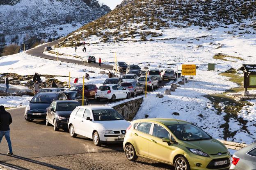
[(25, 120), (46, 119), (46, 109), (53, 101), (67, 100), (67, 96), (62, 92), (41, 92), (36, 94), (28, 103), (25, 110)]

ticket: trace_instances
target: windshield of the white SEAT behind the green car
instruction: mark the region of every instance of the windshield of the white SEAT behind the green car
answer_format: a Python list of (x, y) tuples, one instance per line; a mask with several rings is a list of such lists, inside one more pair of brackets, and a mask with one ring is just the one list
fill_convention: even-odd
[(93, 110), (94, 121), (118, 121), (123, 117), (114, 109)]

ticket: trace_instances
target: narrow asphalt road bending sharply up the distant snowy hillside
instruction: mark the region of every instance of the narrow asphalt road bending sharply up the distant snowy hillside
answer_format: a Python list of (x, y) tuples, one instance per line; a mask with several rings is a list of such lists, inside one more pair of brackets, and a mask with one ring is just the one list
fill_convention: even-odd
[[(50, 56), (50, 55), (43, 54), (43, 50), (44, 50), (44, 47), (47, 47), (47, 46), (51, 47), (53, 45), (56, 45), (61, 40), (63, 40), (63, 38), (60, 38), (59, 40), (55, 40), (53, 42), (46, 43), (44, 45), (35, 47), (33, 49), (30, 49), (30, 50), (27, 50), (26, 53), (30, 54), (32, 56), (40, 57), (40, 58), (45, 58), (45, 59), (49, 59), (49, 60), (57, 60), (57, 57), (55, 57), (55, 56)], [(67, 62), (67, 63), (86, 65), (86, 66), (90, 66), (90, 67), (98, 67), (98, 68), (101, 68), (101, 69), (110, 69), (110, 70), (113, 69), (112, 65), (101, 64), (101, 67), (99, 67), (98, 63), (83, 63), (82, 60), (81, 61), (80, 60), (72, 60), (72, 59), (69, 59), (69, 58), (61, 58), (61, 57), (59, 57), (58, 60), (63, 61), (63, 62)]]

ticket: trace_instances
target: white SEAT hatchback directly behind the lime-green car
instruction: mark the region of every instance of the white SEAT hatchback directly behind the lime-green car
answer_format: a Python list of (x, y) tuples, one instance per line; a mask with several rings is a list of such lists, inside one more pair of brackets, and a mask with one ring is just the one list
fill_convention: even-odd
[(69, 118), (69, 134), (78, 134), (101, 143), (122, 143), (130, 123), (112, 107), (78, 106)]

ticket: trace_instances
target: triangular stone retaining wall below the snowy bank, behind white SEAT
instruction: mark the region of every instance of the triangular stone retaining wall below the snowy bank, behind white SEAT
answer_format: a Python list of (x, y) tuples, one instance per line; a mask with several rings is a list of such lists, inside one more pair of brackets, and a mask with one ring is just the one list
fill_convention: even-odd
[(123, 103), (120, 103), (117, 105), (110, 104), (111, 107), (113, 107), (117, 112), (119, 112), (124, 119), (127, 121), (132, 121), (134, 116), (137, 114), (140, 105), (143, 102), (143, 97), (139, 98), (131, 98), (130, 100), (124, 101)]

